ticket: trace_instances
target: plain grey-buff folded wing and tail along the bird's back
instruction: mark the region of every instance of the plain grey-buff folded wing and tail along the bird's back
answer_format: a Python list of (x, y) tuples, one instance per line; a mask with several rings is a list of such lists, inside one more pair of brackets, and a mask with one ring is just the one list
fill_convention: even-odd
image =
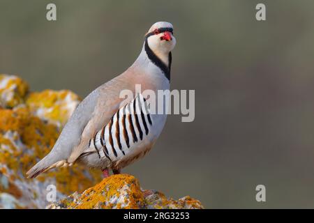
[(64, 126), (52, 151), (27, 172), (29, 178), (48, 169), (75, 162), (87, 148), (93, 134), (110, 121), (120, 106), (124, 106), (120, 105), (124, 100), (119, 98), (120, 91), (134, 88), (130, 87), (132, 85), (124, 76), (123, 73), (99, 86), (82, 100)]

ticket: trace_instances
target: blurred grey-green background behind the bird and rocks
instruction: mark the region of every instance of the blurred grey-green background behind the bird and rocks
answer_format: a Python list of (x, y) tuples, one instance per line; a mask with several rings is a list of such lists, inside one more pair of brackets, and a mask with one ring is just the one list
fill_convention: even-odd
[[(45, 19), (57, 4), (57, 22)], [(265, 3), (267, 21), (255, 20)], [(123, 72), (157, 21), (174, 25), (172, 89), (195, 89), (195, 121), (171, 115), (143, 188), (206, 208), (314, 208), (314, 1), (0, 1), (0, 72), (82, 98)], [(267, 202), (255, 201), (255, 187)]]

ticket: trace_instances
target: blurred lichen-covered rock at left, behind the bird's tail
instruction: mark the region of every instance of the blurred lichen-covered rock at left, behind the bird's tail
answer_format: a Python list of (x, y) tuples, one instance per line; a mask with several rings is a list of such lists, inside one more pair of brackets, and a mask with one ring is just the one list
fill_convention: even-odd
[[(48, 185), (55, 185), (57, 199), (61, 199), (101, 179), (100, 171), (89, 171), (80, 165), (50, 171), (36, 179), (25, 178), (27, 170), (49, 153), (63, 123), (78, 104), (77, 95), (70, 91), (28, 94), (27, 89), (22, 79), (0, 75), (0, 208), (45, 208), (49, 203)], [(41, 105), (47, 95), (53, 99)], [(39, 111), (46, 108), (53, 115), (43, 112), (41, 116)]]

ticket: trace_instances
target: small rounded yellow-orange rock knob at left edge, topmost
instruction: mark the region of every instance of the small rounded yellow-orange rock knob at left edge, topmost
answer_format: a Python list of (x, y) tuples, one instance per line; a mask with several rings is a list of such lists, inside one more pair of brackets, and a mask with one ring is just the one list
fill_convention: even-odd
[(29, 91), (29, 85), (20, 77), (0, 75), (0, 106), (13, 108), (24, 102), (24, 96)]

